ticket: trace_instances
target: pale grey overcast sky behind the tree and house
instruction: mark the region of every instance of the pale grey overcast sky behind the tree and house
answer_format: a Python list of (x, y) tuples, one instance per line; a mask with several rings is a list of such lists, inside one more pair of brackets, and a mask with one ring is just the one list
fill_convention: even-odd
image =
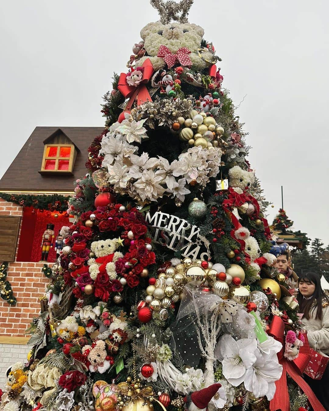
[[(321, 0), (207, 0), (189, 16), (222, 57), (234, 103), (244, 97), (237, 113), (275, 205), (269, 221), (283, 185), (293, 228), (326, 244), (328, 12)], [(148, 0), (1, 0), (0, 175), (36, 126), (102, 126), (112, 73), (126, 71), (141, 28), (156, 20)]]

